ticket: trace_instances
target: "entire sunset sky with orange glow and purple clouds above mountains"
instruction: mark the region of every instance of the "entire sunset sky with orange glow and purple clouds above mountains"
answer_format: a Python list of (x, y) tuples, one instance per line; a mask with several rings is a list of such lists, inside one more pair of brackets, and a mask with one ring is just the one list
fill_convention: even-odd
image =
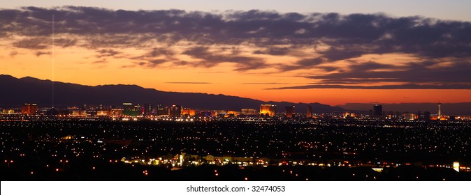
[(0, 74), (331, 105), (471, 100), (470, 1), (222, 2), (2, 3)]

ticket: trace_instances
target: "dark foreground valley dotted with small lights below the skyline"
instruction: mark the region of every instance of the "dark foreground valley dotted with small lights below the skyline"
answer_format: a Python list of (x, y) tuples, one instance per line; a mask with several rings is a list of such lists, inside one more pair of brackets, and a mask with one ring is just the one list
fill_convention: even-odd
[(0, 136), (1, 180), (471, 180), (469, 123), (4, 121)]

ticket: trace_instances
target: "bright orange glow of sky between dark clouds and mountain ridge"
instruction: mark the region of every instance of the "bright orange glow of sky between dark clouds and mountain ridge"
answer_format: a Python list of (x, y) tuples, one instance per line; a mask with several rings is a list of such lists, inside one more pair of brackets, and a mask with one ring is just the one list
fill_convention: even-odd
[[(1, 44), (8, 44), (6, 41)], [(183, 45), (183, 44), (181, 44)], [(249, 56), (254, 48), (242, 47), (242, 54)], [(245, 49), (245, 50), (243, 50)], [(144, 54), (141, 49), (117, 49), (128, 56)], [(177, 52), (184, 50), (183, 46), (175, 46)], [(17, 52), (10, 56), (10, 52)], [(310, 49), (304, 49), (310, 54)], [(181, 60), (197, 61), (187, 55), (178, 54), (175, 57)], [(291, 64), (296, 61), (294, 57), (263, 56), (268, 63)], [(131, 58), (108, 58), (99, 61), (96, 52), (82, 47), (56, 48), (51, 55), (36, 56), (28, 49), (6, 48), (0, 52), (1, 74), (13, 77), (36, 77), (38, 79), (51, 79), (54, 81), (69, 82), (83, 85), (103, 84), (137, 84), (144, 88), (155, 88), (160, 91), (177, 91), (193, 93), (211, 93), (235, 95), (242, 98), (253, 98), (263, 101), (289, 101), (289, 102), (319, 102), (321, 104), (339, 105), (349, 102), (355, 103), (400, 103), (400, 102), (468, 102), (471, 90), (412, 90), (412, 89), (339, 89), (339, 88), (312, 88), (267, 90), (287, 86), (303, 86), (314, 83), (306, 78), (310, 75), (325, 75), (319, 68), (292, 70), (281, 72), (276, 68), (261, 68), (238, 72), (234, 63), (219, 63), (212, 67), (204, 66), (172, 66), (164, 63), (158, 67), (140, 67), (132, 65)], [(393, 63), (398, 67), (408, 61), (420, 59), (407, 54), (368, 54), (354, 59), (365, 62), (375, 59), (380, 63)], [(331, 65), (342, 70), (349, 70), (349, 61), (325, 63), (319, 66)], [(304, 77), (306, 76), (306, 77)], [(181, 82), (181, 83), (179, 83)], [(210, 84), (184, 84), (184, 82), (208, 82)], [(102, 113), (105, 114), (105, 113)], [(189, 115), (192, 112), (189, 111)]]

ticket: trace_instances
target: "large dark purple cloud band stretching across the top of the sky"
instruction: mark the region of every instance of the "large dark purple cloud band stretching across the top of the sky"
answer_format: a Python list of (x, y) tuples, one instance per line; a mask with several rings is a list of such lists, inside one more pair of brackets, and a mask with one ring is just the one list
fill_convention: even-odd
[[(159, 42), (191, 40), (199, 44), (253, 42), (270, 45), (331, 45), (324, 51), (329, 61), (361, 54), (405, 52), (428, 57), (470, 56), (471, 24), (423, 17), (389, 17), (382, 14), (276, 13), (250, 10), (226, 13), (184, 10), (107, 10), (66, 6), (55, 9), (0, 10), (0, 30), (22, 36), (50, 36), (52, 15), (55, 33), (91, 36), (96, 44), (121, 42), (133, 45), (153, 38)], [(144, 40), (126, 35), (147, 35)], [(109, 35), (113, 39), (96, 35)], [(123, 36), (121, 36), (123, 35)], [(142, 36), (140, 38), (143, 38)], [(261, 51), (287, 54), (286, 48)]]

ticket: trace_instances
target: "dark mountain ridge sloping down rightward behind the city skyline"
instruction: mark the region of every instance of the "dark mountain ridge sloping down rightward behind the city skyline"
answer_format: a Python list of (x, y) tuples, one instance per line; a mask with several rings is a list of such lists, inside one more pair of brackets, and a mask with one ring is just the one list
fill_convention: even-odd
[[(52, 86), (54, 85), (54, 91)], [(143, 88), (137, 85), (99, 85), (85, 86), (80, 84), (63, 83), (59, 81), (41, 80), (34, 77), (15, 78), (10, 75), (0, 75), (0, 106), (20, 106), (27, 102), (50, 106), (52, 100), (56, 106), (80, 106), (82, 104), (121, 105), (123, 102), (143, 104), (160, 103), (163, 106), (180, 104), (195, 109), (231, 109), (252, 108), (259, 110), (260, 104), (276, 104), (277, 111), (284, 107), (295, 106), (296, 112), (305, 113), (307, 104), (292, 102), (264, 102), (250, 98), (240, 98), (230, 95), (215, 95), (207, 93), (178, 93), (158, 91), (153, 88)], [(54, 96), (52, 96), (54, 95)], [(54, 97), (54, 98), (52, 98)], [(312, 111), (343, 111), (340, 107), (326, 104), (309, 103)]]

